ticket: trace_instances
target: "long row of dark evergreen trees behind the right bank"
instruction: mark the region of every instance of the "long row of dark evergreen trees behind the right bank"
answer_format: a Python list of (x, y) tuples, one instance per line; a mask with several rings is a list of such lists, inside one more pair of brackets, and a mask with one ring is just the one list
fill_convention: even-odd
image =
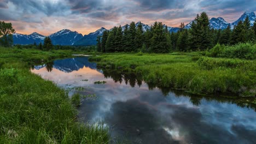
[(229, 25), (226, 29), (210, 27), (209, 17), (205, 12), (197, 14), (191, 23), (191, 28), (185, 29), (184, 23), (179, 26), (177, 33), (170, 33), (167, 26), (155, 22), (146, 32), (141, 23), (136, 27), (135, 22), (114, 27), (97, 37), (97, 51), (100, 52), (156, 52), (198, 51), (211, 49), (216, 44), (235, 45), (256, 40), (256, 20), (251, 26), (249, 17), (238, 22), (234, 29)]

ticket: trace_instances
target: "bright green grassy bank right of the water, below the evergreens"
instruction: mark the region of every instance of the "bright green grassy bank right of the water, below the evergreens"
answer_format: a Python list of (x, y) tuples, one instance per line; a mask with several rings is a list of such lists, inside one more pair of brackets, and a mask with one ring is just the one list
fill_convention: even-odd
[(256, 61), (237, 58), (213, 58), (205, 52), (169, 54), (110, 53), (92, 57), (99, 67), (133, 70), (143, 80), (158, 87), (183, 89), (189, 93), (231, 92), (254, 97)]

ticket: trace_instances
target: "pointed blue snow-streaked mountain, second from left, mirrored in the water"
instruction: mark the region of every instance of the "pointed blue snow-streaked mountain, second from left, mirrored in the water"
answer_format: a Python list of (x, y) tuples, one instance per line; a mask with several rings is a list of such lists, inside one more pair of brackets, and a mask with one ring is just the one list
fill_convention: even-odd
[(75, 42), (83, 38), (83, 35), (78, 32), (62, 29), (59, 32), (51, 34), (50, 39), (54, 45), (73, 45)]

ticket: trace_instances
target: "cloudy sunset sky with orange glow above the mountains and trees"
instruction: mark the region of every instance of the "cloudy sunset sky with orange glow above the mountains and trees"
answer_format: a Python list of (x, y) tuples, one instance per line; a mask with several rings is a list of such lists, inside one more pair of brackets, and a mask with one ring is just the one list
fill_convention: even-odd
[(0, 21), (11, 22), (22, 34), (61, 29), (88, 34), (131, 21), (178, 27), (202, 11), (234, 22), (244, 12), (256, 11), (256, 0), (0, 0)]

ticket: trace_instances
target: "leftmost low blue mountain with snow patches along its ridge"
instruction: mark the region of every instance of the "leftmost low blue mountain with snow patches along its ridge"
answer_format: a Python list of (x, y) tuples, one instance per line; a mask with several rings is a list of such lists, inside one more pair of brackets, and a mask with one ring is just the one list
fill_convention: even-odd
[(38, 34), (36, 32), (32, 34), (19, 34), (19, 33), (14, 33), (13, 34), (13, 44), (21, 44), (21, 45), (26, 45), (26, 44), (39, 44), (43, 43), (45, 36)]

